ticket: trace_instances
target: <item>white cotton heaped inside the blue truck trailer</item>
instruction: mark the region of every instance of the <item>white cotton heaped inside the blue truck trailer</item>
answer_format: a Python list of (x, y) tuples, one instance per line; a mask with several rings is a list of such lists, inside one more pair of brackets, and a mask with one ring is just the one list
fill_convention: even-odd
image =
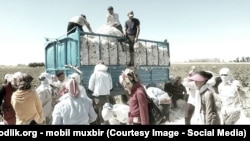
[[(98, 28), (95, 33), (122, 37), (119, 30), (106, 24)], [(99, 38), (99, 36), (91, 35), (82, 36), (81, 64), (95, 65), (101, 54), (101, 59), (105, 64), (126, 65), (130, 61), (130, 52), (127, 43), (123, 43), (123, 47), (124, 51), (117, 38), (103, 36)], [(135, 65), (168, 65), (170, 62), (166, 44), (138, 41), (135, 43), (134, 48)]]

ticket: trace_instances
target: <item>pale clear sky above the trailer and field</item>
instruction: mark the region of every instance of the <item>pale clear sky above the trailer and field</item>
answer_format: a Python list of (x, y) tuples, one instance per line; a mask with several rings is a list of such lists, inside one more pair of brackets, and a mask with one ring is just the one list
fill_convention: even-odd
[(45, 38), (64, 36), (80, 14), (95, 32), (109, 6), (123, 26), (134, 11), (140, 39), (167, 39), (171, 62), (250, 56), (250, 0), (0, 0), (0, 65), (44, 62)]

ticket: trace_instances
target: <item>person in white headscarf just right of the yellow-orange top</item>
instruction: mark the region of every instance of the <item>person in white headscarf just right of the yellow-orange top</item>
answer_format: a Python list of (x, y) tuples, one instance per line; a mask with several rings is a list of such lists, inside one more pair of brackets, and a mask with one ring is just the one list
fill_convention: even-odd
[(36, 88), (36, 92), (42, 102), (43, 112), (44, 112), (44, 122), (45, 124), (51, 124), (52, 120), (52, 87), (49, 83), (49, 74), (41, 73), (39, 76), (40, 85)]

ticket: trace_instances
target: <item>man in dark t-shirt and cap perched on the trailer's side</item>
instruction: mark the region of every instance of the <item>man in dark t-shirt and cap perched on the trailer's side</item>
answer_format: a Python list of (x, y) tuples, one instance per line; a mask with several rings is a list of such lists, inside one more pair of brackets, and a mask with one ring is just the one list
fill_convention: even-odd
[(129, 41), (130, 63), (128, 66), (134, 66), (134, 44), (138, 41), (140, 34), (140, 21), (134, 18), (133, 11), (128, 13), (128, 17), (129, 19), (125, 22), (124, 36), (127, 37)]

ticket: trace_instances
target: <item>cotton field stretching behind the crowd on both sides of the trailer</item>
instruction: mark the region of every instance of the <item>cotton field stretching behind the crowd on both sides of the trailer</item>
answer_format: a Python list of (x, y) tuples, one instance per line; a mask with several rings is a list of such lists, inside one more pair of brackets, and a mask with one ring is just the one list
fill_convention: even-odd
[[(238, 79), (242, 82), (244, 87), (248, 87), (250, 84), (250, 64), (215, 64), (215, 63), (175, 63), (170, 66), (170, 76), (181, 76), (182, 78), (186, 77), (191, 66), (196, 66), (198, 70), (209, 70), (214, 73), (219, 73), (219, 70), (223, 67), (228, 67), (231, 69), (235, 79)], [(40, 73), (44, 72), (44, 67), (27, 67), (27, 66), (0, 66), (0, 77), (3, 78), (6, 73), (14, 72), (25, 72), (29, 73), (34, 77), (32, 82), (33, 86), (36, 87), (39, 85), (38, 76)], [(0, 83), (3, 82), (3, 79), (0, 79)]]

